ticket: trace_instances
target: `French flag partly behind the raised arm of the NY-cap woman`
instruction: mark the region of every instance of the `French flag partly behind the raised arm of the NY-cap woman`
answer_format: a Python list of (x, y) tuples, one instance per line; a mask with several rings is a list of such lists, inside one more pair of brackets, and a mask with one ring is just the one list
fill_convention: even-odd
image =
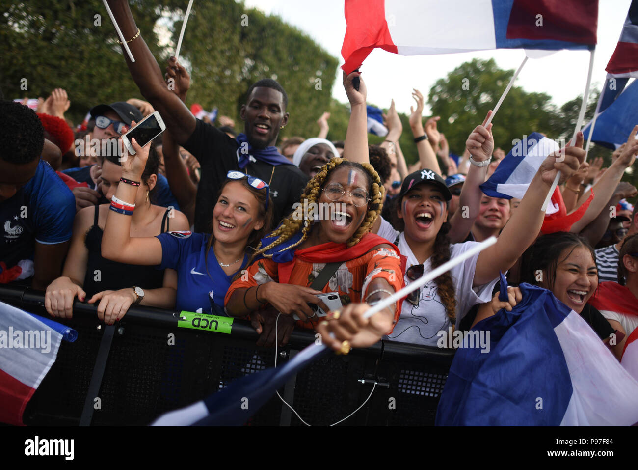
[[(543, 160), (558, 149), (560, 146), (554, 140), (541, 133), (532, 132), (530, 135), (523, 136), (523, 139), (520, 139), (499, 163), (494, 174), (480, 185), (481, 190), (490, 197), (523, 199)], [(560, 188), (556, 186), (551, 197), (551, 204), (547, 205), (541, 231), (543, 233), (568, 231), (574, 222), (582, 217), (592, 200), (593, 192), (584, 204), (567, 214)]]

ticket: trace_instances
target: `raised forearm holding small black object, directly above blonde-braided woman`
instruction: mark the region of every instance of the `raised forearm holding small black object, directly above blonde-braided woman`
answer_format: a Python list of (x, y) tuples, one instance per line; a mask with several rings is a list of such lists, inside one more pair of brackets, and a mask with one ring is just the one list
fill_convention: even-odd
[(343, 156), (350, 162), (370, 163), (367, 153), (367, 112), (366, 112), (366, 84), (359, 80), (359, 91), (352, 86), (355, 77), (360, 78), (361, 72), (352, 72), (346, 75), (343, 72), (343, 87), (350, 101), (350, 121), (346, 131), (346, 140), (343, 144)]

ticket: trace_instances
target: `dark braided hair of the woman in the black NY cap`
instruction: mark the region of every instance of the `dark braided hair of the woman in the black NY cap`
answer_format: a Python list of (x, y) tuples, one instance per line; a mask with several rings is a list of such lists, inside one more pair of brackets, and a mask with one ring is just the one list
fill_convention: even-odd
[[(402, 218), (399, 218), (397, 213), (402, 201), (403, 197), (396, 197), (394, 199), (394, 209), (392, 209), (392, 225), (399, 232), (405, 231), (405, 222)], [(429, 258), (431, 269), (436, 269), (441, 266), (441, 264), (450, 261), (450, 237), (448, 233), (451, 228), (452, 225), (450, 225), (449, 222), (443, 222), (443, 225), (441, 225), (441, 228), (436, 234), (436, 239), (434, 239), (434, 252)], [(445, 314), (449, 318), (452, 328), (454, 328), (456, 325), (456, 291), (450, 271), (445, 271), (445, 273), (434, 279), (434, 284), (436, 284), (441, 303), (443, 303), (443, 307), (445, 307)]]

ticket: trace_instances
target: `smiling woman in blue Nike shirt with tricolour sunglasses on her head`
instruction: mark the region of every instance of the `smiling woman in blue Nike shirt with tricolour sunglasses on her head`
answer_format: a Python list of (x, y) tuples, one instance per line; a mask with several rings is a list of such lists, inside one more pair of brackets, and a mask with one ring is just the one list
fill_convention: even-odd
[[(122, 161), (122, 181), (114, 201), (135, 201), (148, 158), (148, 147), (133, 140), (134, 156)], [(112, 203), (104, 227), (102, 253), (130, 264), (159, 265), (177, 271), (177, 309), (225, 315), (224, 295), (234, 275), (248, 262), (249, 250), (269, 229), (272, 201), (269, 186), (259, 178), (230, 171), (212, 211), (212, 234), (167, 232), (156, 237), (131, 237), (131, 217)]]

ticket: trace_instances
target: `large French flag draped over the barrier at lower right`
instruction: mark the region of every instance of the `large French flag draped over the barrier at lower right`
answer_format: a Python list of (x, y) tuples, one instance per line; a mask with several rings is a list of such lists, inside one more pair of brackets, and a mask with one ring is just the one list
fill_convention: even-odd
[(638, 381), (598, 335), (554, 295), (521, 284), (523, 299), (472, 330), (491, 349), (459, 348), (437, 425), (629, 426), (638, 423)]

